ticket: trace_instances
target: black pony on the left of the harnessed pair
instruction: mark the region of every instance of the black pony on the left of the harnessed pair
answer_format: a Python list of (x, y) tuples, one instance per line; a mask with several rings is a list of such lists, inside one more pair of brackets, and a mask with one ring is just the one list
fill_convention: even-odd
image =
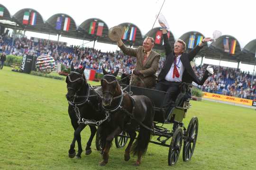
[(74, 128), (73, 142), (70, 145), (69, 157), (75, 156), (75, 141), (78, 144), (78, 153), (76, 158), (81, 158), (82, 145), (81, 145), (81, 131), (88, 124), (91, 128), (91, 136), (86, 144), (86, 154), (91, 153), (91, 142), (96, 134), (96, 123), (101, 124), (100, 120), (105, 118), (105, 115), (98, 109), (100, 101), (98, 93), (101, 94), (101, 88), (92, 88), (85, 79), (84, 68), (73, 68), (71, 65), (71, 72), (66, 78), (67, 94), (66, 98), (69, 102), (68, 114)]

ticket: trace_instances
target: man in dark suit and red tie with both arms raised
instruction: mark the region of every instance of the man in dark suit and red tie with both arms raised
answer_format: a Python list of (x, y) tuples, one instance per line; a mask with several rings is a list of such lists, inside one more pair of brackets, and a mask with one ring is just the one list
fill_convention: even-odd
[[(160, 23), (160, 25), (165, 27), (162, 23)], [(167, 92), (162, 107), (165, 109), (166, 113), (169, 113), (179, 92), (181, 82), (192, 83), (193, 81), (198, 85), (203, 85), (208, 76), (213, 74), (213, 69), (207, 68), (208, 70), (205, 72), (202, 79), (199, 80), (190, 64), (190, 61), (192, 61), (196, 54), (203, 48), (203, 44), (212, 41), (212, 39), (204, 38), (192, 51), (187, 53), (184, 52), (186, 50), (186, 43), (183, 42), (183, 40), (177, 40), (174, 43), (174, 48), (172, 48), (168, 42), (166, 33), (166, 29), (163, 28), (166, 59), (164, 67), (158, 75), (158, 83), (155, 89)]]

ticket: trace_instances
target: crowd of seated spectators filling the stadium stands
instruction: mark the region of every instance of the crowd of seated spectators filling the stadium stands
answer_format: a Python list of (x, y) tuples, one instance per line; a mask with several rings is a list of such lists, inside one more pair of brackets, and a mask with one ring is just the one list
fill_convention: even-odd
[[(13, 46), (12, 46), (13, 43)], [(88, 47), (70, 46), (65, 42), (50, 41), (45, 39), (27, 39), (26, 37), (12, 38), (0, 36), (0, 52), (22, 56), (28, 54), (39, 56), (43, 54), (51, 55), (56, 63), (61, 63), (66, 67), (70, 66), (71, 61), (86, 68), (96, 69), (101, 72), (101, 67), (109, 71), (119, 68), (120, 72), (131, 73), (135, 68), (136, 58), (124, 55), (120, 51), (101, 52)], [(159, 70), (163, 67), (165, 58), (159, 62)], [(207, 65), (194, 67), (198, 77), (202, 77)], [(246, 99), (256, 99), (256, 81), (252, 81), (249, 72), (241, 72), (236, 68), (226, 68), (214, 66), (214, 75), (210, 76), (204, 85), (198, 86), (202, 91), (219, 93)]]

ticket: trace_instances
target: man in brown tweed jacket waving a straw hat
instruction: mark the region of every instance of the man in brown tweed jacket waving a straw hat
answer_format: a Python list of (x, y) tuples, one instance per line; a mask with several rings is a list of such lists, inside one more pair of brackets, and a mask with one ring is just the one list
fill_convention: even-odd
[(160, 54), (152, 51), (154, 39), (146, 37), (143, 46), (138, 48), (128, 48), (121, 39), (118, 40), (118, 46), (124, 54), (137, 58), (136, 67), (133, 71), (131, 85), (151, 88), (155, 86), (155, 72), (158, 69)]

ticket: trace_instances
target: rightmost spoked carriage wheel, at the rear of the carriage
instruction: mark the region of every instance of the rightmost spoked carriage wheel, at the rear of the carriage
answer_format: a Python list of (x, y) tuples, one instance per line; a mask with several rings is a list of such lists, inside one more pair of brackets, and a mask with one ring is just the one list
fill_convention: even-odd
[(198, 134), (198, 119), (197, 117), (193, 117), (189, 122), (189, 126), (185, 134), (186, 139), (184, 139), (183, 155), (182, 155), (183, 161), (191, 160), (191, 157), (195, 149), (197, 134)]

